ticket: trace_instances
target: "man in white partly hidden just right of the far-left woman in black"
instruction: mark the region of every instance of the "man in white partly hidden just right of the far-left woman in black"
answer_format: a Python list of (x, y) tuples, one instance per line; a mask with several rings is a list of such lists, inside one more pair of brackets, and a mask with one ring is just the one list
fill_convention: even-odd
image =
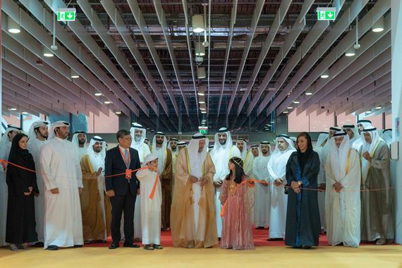
[[(40, 150), (43, 145), (47, 143), (49, 138), (49, 123), (47, 121), (35, 121), (30, 126), (28, 135), (28, 151), (32, 154), (35, 162), (35, 170), (40, 170)], [(42, 173), (36, 173), (37, 188), (39, 195), (35, 196), (35, 221), (38, 242), (35, 244), (37, 247), (43, 247), (44, 242), (44, 188)]]

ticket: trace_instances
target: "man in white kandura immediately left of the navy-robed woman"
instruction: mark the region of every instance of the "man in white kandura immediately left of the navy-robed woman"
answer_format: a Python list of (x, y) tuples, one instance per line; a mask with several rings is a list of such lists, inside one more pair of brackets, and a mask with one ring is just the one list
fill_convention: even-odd
[(268, 163), (271, 184), (271, 211), (269, 215), (269, 240), (283, 240), (286, 227), (288, 196), (285, 195), (286, 163), (296, 149), (288, 135), (276, 137), (276, 148)]

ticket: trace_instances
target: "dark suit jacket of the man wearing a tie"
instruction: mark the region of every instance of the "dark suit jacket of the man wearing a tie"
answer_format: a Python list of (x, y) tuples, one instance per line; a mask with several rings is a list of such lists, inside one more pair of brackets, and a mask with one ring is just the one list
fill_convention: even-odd
[[(138, 151), (130, 148), (130, 169), (134, 170), (139, 169), (140, 167)], [(126, 164), (124, 163), (117, 145), (106, 152), (104, 176), (111, 176), (119, 173), (126, 173)], [(140, 188), (140, 182), (135, 176), (135, 173), (137, 172), (132, 173), (130, 183), (128, 183), (125, 174), (109, 178), (106, 177), (104, 179), (106, 190), (114, 190), (115, 195), (126, 195), (128, 188), (130, 188), (131, 193), (137, 195), (137, 189)]]

